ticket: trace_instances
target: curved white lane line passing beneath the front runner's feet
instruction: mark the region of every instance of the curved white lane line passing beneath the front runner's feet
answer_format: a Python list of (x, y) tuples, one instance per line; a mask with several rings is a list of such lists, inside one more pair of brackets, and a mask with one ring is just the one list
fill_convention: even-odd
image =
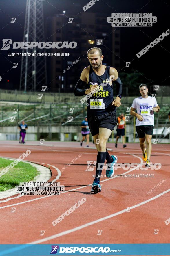
[[(126, 154), (130, 154), (130, 153), (126, 153)], [(134, 156), (134, 157), (138, 157), (138, 156), (135, 156), (135, 155), (133, 155), (133, 154), (130, 154), (130, 155), (132, 155), (132, 156)], [(140, 166), (140, 164), (143, 162), (143, 160), (142, 160), (141, 157), (138, 157), (138, 158), (140, 159), (140, 163), (139, 163), (136, 167), (134, 167), (134, 168), (132, 168), (131, 170), (129, 170), (129, 171), (125, 172), (125, 173), (122, 173), (122, 174), (120, 174), (120, 175), (124, 175), (124, 174), (126, 174), (126, 173), (132, 172), (133, 170), (135, 170), (136, 168), (138, 168), (138, 167)], [(56, 168), (57, 168), (57, 167), (56, 167)], [(58, 168), (57, 168), (57, 169), (58, 169)], [(117, 177), (112, 177), (112, 178), (104, 179), (104, 180), (102, 180), (100, 183), (105, 182), (105, 181), (107, 181), (107, 180), (115, 179), (115, 178), (117, 178)], [(78, 189), (83, 189), (83, 188), (88, 187), (88, 186), (92, 186), (92, 184), (89, 184), (89, 185), (86, 185), (86, 186), (82, 186), (82, 187), (78, 187), (78, 188), (75, 188), (75, 189), (70, 189), (70, 190), (68, 190), (68, 191), (60, 192), (60, 194), (62, 194), (62, 193), (67, 193), (67, 192), (74, 191), (74, 190), (78, 190)], [(36, 200), (43, 199), (43, 198), (47, 198), (47, 197), (50, 197), (50, 196), (54, 196), (54, 195), (41, 196), (41, 197), (39, 197), (39, 198), (31, 199), (31, 200), (28, 200), (28, 201), (23, 201), (23, 202), (16, 203), (16, 204), (12, 204), (12, 205), (1, 206), (0, 209), (7, 208), (7, 207), (10, 207), (10, 206), (14, 206), (14, 205), (22, 205), (22, 204), (25, 204), (25, 203), (28, 203), (28, 202), (36, 201)]]

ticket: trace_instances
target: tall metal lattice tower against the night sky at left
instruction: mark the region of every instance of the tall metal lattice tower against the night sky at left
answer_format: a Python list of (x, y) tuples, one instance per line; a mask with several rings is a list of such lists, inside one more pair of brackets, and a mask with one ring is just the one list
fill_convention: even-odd
[[(44, 42), (43, 1), (27, 0), (23, 42)], [(45, 53), (45, 48), (32, 47), (22, 53)], [(19, 90), (37, 91), (47, 85), (46, 58), (22, 56)]]

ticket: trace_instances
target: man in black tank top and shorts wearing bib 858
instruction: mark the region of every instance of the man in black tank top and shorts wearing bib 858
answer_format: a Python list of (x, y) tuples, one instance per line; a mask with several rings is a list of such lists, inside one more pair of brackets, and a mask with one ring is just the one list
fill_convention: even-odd
[[(110, 156), (106, 149), (106, 143), (116, 126), (116, 106), (121, 105), (122, 83), (115, 68), (102, 64), (103, 54), (100, 48), (94, 47), (87, 51), (87, 58), (90, 62), (88, 67), (82, 71), (80, 79), (74, 90), (75, 96), (83, 96), (81, 103), (87, 101), (87, 118), (89, 129), (93, 140), (99, 141), (96, 144), (98, 154), (96, 163), (96, 177), (92, 184), (91, 192), (101, 191), (100, 186), (100, 165), (107, 160), (107, 177), (113, 174), (113, 167), (117, 162), (116, 156)], [(113, 85), (116, 84), (117, 96), (113, 98)]]

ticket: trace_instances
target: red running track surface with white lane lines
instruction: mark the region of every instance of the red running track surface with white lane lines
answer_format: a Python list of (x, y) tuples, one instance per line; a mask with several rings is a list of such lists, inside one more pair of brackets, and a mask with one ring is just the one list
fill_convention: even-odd
[[(30, 142), (29, 142), (30, 143)], [(28, 144), (29, 144), (28, 143)], [(40, 162), (63, 168), (80, 153), (82, 156), (61, 173), (59, 181), (65, 192), (59, 196), (15, 195), (0, 203), (1, 244), (25, 243), (168, 243), (169, 227), (165, 224), (169, 216), (169, 156), (170, 145), (153, 145), (151, 161), (161, 163), (160, 170), (136, 170), (128, 174), (153, 174), (154, 177), (102, 178), (102, 192), (90, 193), (92, 172), (85, 172), (87, 160), (96, 160), (95, 149), (83, 148), (79, 143), (49, 142), (53, 146), (18, 145), (17, 142), (0, 142), (1, 156), (17, 158), (30, 149), (26, 161)], [(34, 142), (33, 144), (36, 144)], [(91, 144), (91, 146), (94, 146)], [(126, 148), (108, 143), (118, 157), (118, 163), (141, 163), (139, 144), (127, 144)], [(57, 170), (51, 168), (55, 179)], [(128, 170), (118, 168), (114, 174)], [(105, 171), (102, 172), (105, 174)], [(147, 194), (162, 179), (165, 181)], [(65, 213), (82, 198), (86, 202), (58, 223), (52, 221)], [(10, 199), (10, 200), (8, 200)], [(1, 200), (2, 201), (2, 200)], [(11, 213), (11, 207), (16, 207)], [(131, 207), (130, 212), (127, 207)], [(159, 229), (154, 235), (154, 229)], [(40, 230), (45, 230), (40, 236)], [(102, 234), (98, 235), (98, 230)], [(22, 234), (22, 235), (21, 235)]]

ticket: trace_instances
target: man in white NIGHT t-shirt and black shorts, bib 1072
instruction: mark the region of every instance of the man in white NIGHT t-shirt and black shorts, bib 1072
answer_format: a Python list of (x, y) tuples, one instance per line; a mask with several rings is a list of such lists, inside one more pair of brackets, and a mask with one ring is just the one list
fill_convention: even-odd
[[(136, 116), (136, 132), (139, 136), (140, 147), (143, 153), (143, 160), (146, 161), (145, 166), (150, 166), (150, 157), (152, 151), (151, 138), (154, 128), (154, 114), (158, 112), (160, 107), (155, 97), (148, 96), (147, 85), (139, 86), (140, 97), (133, 100), (130, 114)], [(135, 112), (136, 109), (136, 112)], [(145, 144), (146, 142), (146, 144)]]

